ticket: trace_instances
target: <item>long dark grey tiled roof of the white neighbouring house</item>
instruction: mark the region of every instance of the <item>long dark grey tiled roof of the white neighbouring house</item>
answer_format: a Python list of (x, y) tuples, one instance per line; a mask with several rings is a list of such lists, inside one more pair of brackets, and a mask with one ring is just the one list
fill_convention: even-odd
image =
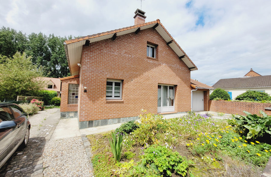
[(255, 88), (271, 87), (271, 75), (257, 77), (240, 77), (231, 79), (220, 79), (214, 88)]

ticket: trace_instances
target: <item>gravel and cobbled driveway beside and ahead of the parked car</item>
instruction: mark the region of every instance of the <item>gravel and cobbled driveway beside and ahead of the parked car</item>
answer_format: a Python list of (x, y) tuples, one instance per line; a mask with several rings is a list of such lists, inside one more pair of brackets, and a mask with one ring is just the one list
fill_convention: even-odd
[(50, 140), (59, 119), (59, 108), (31, 116), (27, 147), (14, 152), (0, 176), (92, 176), (81, 137)]

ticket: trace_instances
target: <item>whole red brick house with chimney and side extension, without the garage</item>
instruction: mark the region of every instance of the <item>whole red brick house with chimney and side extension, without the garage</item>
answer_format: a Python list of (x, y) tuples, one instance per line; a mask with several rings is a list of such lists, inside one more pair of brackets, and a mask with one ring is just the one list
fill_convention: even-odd
[(159, 19), (145, 23), (139, 9), (134, 18), (134, 26), (65, 41), (72, 76), (60, 78), (61, 118), (78, 117), (84, 129), (136, 120), (142, 109), (191, 110), (197, 67)]

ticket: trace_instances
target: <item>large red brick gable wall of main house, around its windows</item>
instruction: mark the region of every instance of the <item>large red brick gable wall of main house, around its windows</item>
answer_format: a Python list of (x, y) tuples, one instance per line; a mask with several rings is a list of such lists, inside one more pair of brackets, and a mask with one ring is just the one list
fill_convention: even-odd
[[(147, 42), (158, 45), (156, 60), (146, 56)], [(137, 116), (141, 109), (157, 113), (158, 83), (177, 85), (176, 112), (191, 109), (190, 70), (156, 30), (83, 46), (81, 65), (79, 121)], [(106, 79), (123, 80), (122, 100), (106, 100)]]

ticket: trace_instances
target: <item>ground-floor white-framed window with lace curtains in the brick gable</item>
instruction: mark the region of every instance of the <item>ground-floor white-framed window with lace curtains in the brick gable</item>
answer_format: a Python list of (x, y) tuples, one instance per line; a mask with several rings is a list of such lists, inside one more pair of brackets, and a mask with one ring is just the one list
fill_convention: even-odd
[(106, 81), (106, 99), (121, 99), (122, 81), (107, 79)]

